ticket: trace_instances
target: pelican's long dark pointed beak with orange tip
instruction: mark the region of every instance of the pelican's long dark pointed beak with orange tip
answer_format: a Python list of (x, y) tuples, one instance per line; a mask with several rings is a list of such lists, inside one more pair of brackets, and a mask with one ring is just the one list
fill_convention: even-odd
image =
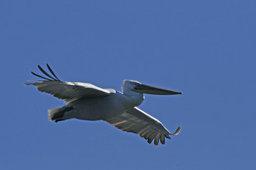
[(173, 94), (182, 94), (182, 92), (175, 92), (172, 90), (162, 89), (159, 87), (153, 87), (150, 85), (140, 84), (135, 87), (132, 91), (145, 93), (145, 94), (158, 94), (158, 95), (173, 95)]

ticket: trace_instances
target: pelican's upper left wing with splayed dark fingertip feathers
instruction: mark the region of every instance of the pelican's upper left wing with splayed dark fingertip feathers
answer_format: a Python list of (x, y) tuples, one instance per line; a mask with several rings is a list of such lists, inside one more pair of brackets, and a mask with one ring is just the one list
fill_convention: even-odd
[(31, 72), (35, 76), (44, 78), (45, 80), (36, 80), (35, 82), (24, 84), (34, 85), (40, 92), (46, 92), (52, 94), (54, 97), (58, 97), (59, 99), (65, 99), (65, 102), (67, 103), (81, 97), (103, 97), (109, 96), (109, 94), (113, 93), (113, 91), (109, 89), (101, 89), (90, 83), (60, 81), (48, 64), (47, 67), (52, 73), (52, 76), (38, 65), (40, 71), (42, 71), (42, 73), (44, 73), (48, 78)]

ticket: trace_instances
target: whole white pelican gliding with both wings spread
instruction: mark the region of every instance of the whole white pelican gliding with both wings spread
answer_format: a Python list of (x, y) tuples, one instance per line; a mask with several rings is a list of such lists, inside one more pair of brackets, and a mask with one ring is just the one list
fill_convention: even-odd
[(149, 144), (154, 139), (156, 146), (159, 139), (164, 145), (165, 138), (170, 139), (169, 135), (177, 135), (180, 132), (181, 126), (171, 133), (159, 120), (136, 106), (143, 102), (143, 94), (173, 95), (182, 94), (182, 92), (152, 87), (134, 80), (124, 80), (122, 92), (118, 92), (114, 89), (101, 89), (90, 83), (61, 81), (48, 64), (47, 68), (52, 75), (39, 65), (38, 68), (47, 77), (31, 72), (44, 80), (24, 84), (34, 85), (40, 92), (64, 99), (66, 103), (62, 108), (48, 110), (51, 121), (59, 122), (70, 118), (104, 120), (122, 131), (140, 134), (141, 138), (145, 138)]

